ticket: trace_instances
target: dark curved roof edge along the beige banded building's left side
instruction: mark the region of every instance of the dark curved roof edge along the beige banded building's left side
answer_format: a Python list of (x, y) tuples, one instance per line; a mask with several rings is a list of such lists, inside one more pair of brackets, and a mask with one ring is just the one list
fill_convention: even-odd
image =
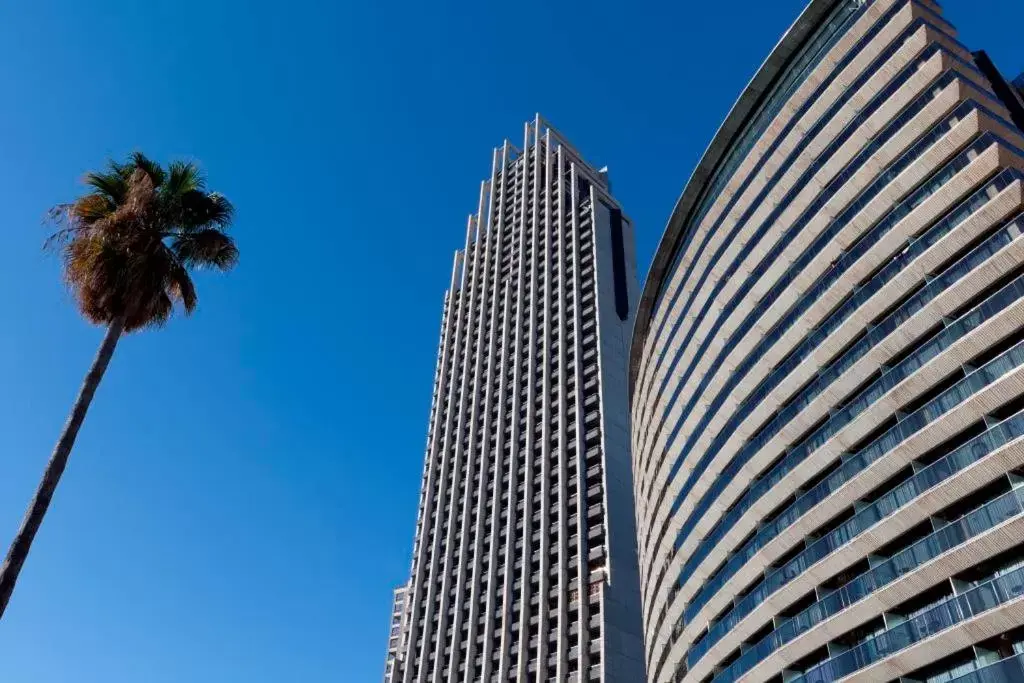
[(778, 78), (784, 73), (786, 65), (793, 55), (800, 50), (808, 37), (821, 23), (821, 19), (843, 0), (811, 0), (792, 27), (783, 34), (781, 40), (772, 49), (768, 58), (755, 74), (743, 89), (736, 103), (732, 105), (729, 115), (715, 133), (711, 144), (705, 152), (690, 179), (686, 182), (683, 194), (672, 210), (672, 216), (662, 236), (662, 241), (654, 252), (647, 280), (644, 283), (640, 303), (637, 306), (636, 322), (633, 325), (633, 339), (630, 344), (630, 395), (635, 389), (637, 373), (640, 369), (640, 354), (647, 340), (650, 328), (650, 316), (654, 301), (662, 289), (669, 265), (675, 254), (676, 245), (685, 237), (684, 227), (693, 213), (697, 202), (701, 199), (705, 188), (715, 175), (719, 164), (732, 148), (733, 142), (746, 129), (751, 119), (758, 111), (764, 96), (771, 92)]

